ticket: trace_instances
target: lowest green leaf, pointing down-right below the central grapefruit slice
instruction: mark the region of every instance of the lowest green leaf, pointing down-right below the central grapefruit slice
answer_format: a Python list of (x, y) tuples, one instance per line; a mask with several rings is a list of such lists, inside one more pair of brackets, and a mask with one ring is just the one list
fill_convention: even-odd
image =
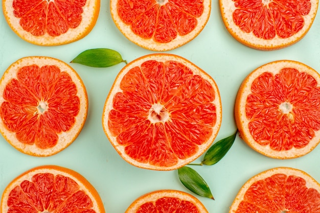
[(203, 178), (190, 167), (181, 167), (178, 169), (178, 176), (182, 184), (191, 192), (214, 200), (208, 184)]

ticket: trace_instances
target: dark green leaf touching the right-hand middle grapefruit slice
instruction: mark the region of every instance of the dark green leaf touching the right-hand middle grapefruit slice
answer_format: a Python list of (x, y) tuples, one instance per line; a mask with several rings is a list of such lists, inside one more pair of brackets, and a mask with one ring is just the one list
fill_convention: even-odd
[(219, 140), (205, 153), (201, 164), (213, 165), (223, 158), (230, 150), (237, 136), (237, 131), (226, 138)]

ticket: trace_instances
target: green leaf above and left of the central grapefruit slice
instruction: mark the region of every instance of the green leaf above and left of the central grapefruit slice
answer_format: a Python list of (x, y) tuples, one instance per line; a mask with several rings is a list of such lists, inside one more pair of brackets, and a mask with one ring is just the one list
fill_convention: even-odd
[(122, 59), (120, 53), (115, 50), (99, 48), (83, 51), (71, 63), (79, 63), (92, 67), (109, 67), (121, 62), (127, 63)]

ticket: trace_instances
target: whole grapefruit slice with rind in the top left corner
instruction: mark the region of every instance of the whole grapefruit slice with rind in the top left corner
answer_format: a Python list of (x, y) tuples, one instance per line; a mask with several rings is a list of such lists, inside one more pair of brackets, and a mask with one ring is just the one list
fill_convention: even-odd
[(22, 39), (52, 46), (77, 41), (96, 25), (100, 0), (3, 0), (10, 28)]

